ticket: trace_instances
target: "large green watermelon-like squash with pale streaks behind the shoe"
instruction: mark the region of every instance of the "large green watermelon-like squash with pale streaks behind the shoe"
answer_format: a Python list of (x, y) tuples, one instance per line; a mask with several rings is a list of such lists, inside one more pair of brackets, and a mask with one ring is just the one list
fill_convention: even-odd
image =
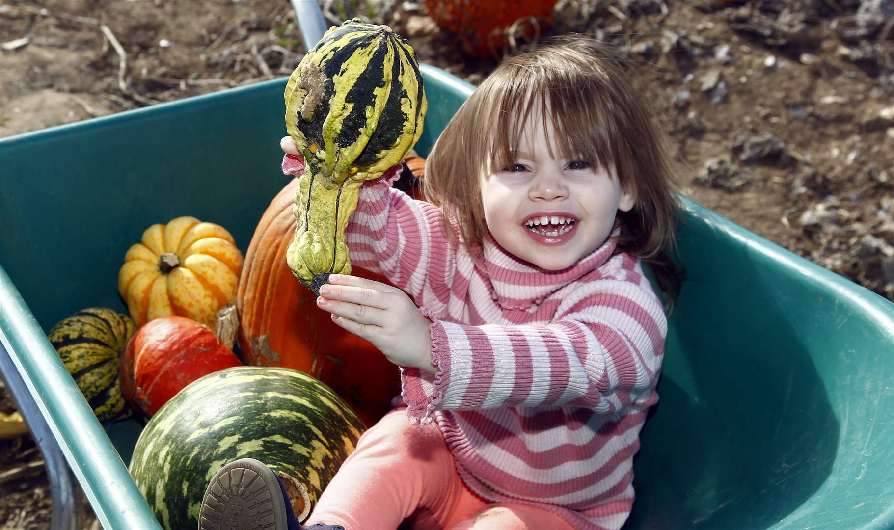
[(196, 528), (211, 477), (236, 458), (257, 458), (280, 477), (304, 520), (364, 429), (307, 374), (236, 366), (190, 383), (159, 409), (130, 471), (164, 528)]

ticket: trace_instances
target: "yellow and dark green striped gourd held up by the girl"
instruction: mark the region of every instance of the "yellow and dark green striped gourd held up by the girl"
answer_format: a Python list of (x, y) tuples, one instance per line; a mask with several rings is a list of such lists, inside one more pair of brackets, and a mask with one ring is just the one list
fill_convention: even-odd
[(355, 18), (333, 26), (285, 88), (286, 130), (304, 155), (287, 260), (318, 292), (350, 273), (344, 231), (363, 181), (381, 176), (416, 145), (428, 104), (408, 41)]

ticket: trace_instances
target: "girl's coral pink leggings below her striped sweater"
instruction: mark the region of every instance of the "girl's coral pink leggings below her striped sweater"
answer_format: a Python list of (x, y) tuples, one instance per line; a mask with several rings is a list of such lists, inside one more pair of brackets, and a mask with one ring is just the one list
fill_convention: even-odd
[(360, 437), (304, 525), (316, 523), (348, 530), (570, 528), (544, 509), (478, 497), (463, 484), (437, 425), (410, 425), (402, 408)]

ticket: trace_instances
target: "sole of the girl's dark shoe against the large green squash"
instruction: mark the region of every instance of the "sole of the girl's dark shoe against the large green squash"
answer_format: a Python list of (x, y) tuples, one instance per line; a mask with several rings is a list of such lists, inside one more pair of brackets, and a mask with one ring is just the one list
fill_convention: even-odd
[[(199, 509), (199, 530), (305, 530), (291, 511), (279, 477), (254, 458), (223, 466), (208, 483)], [(314, 525), (307, 530), (344, 530), (338, 525)]]

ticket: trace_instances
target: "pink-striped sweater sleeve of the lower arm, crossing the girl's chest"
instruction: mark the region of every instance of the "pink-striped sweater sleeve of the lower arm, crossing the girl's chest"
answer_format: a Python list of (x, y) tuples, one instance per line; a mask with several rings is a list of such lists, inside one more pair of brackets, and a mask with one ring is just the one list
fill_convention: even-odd
[(657, 400), (667, 320), (649, 288), (603, 279), (580, 286), (547, 325), (432, 320), (436, 374), (401, 368), (410, 422), (436, 409), (586, 407), (611, 415)]

